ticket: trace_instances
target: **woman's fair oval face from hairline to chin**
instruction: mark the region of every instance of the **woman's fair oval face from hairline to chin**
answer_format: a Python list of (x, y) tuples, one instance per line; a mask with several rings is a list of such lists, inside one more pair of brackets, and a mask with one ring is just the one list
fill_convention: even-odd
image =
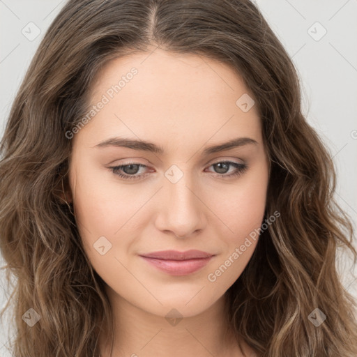
[[(241, 275), (269, 171), (250, 97), (231, 68), (191, 54), (157, 49), (102, 68), (93, 111), (73, 131), (69, 179), (84, 250), (112, 296), (189, 317)], [(143, 257), (165, 250), (209, 257)]]

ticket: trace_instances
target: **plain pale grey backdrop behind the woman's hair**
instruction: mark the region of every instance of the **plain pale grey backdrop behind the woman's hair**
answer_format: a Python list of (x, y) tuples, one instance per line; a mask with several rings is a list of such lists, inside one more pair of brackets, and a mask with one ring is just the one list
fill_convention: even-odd
[[(304, 114), (333, 155), (337, 201), (356, 227), (357, 0), (256, 2), (294, 61), (301, 77)], [(26, 68), (64, 3), (0, 0), (0, 137)], [(339, 264), (347, 266), (341, 271), (344, 285), (357, 298), (356, 272), (352, 274), (356, 267), (347, 263), (346, 257), (339, 258)], [(3, 278), (0, 272), (0, 307), (8, 296)], [(0, 333), (1, 356), (8, 356), (10, 337)]]

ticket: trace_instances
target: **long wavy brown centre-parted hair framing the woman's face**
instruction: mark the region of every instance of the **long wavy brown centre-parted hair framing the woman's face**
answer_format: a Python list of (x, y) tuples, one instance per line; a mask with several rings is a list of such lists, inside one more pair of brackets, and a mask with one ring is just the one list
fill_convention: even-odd
[[(226, 63), (259, 108), (271, 161), (266, 217), (280, 217), (261, 231), (227, 291), (237, 340), (264, 357), (357, 356), (356, 301), (335, 266), (337, 248), (356, 263), (351, 219), (334, 199), (331, 154), (301, 112), (296, 69), (249, 0), (70, 0), (52, 22), (0, 146), (0, 248), (16, 279), (14, 356), (98, 357), (98, 332), (112, 336), (104, 282), (59, 195), (68, 188), (65, 133), (86, 114), (98, 70), (149, 45)], [(309, 319), (317, 308), (326, 314), (318, 327)], [(23, 315), (33, 311), (40, 320), (29, 328)]]

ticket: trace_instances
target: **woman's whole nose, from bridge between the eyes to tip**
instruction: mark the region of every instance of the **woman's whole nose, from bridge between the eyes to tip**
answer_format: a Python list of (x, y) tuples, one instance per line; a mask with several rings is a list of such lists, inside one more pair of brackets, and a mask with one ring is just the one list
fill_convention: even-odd
[[(161, 206), (158, 220), (160, 230), (169, 230), (176, 236), (189, 236), (204, 225), (204, 205), (196, 196), (192, 175), (185, 170), (188, 165), (172, 165), (165, 172), (162, 190), (165, 204)], [(182, 169), (181, 169), (182, 168)]]

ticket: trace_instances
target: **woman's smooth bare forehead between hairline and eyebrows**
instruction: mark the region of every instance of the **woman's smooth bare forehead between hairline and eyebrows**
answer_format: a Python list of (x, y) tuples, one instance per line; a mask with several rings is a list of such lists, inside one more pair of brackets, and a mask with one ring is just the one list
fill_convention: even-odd
[(252, 97), (241, 76), (204, 56), (160, 49), (122, 56), (106, 63), (89, 93), (90, 107), (106, 98), (79, 132), (91, 146), (114, 135), (146, 137), (162, 146), (174, 145), (173, 139), (261, 139), (255, 105), (248, 112), (237, 105), (238, 98)]

